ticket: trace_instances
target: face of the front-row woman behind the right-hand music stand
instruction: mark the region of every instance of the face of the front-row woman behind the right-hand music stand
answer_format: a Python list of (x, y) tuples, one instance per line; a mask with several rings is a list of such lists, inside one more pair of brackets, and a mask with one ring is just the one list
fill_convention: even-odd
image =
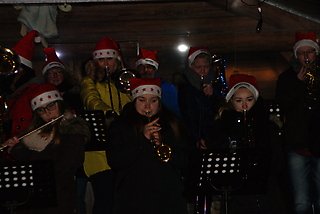
[(233, 108), (242, 112), (243, 110), (250, 110), (252, 106), (256, 103), (253, 93), (247, 88), (239, 88), (234, 92), (231, 98), (231, 104)]

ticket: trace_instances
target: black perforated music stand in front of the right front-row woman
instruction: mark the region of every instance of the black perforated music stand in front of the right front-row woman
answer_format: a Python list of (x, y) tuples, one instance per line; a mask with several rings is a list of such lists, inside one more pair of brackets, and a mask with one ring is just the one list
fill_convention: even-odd
[[(203, 188), (209, 184), (214, 191), (222, 193), (225, 214), (228, 213), (229, 192), (238, 190), (243, 185), (241, 161), (241, 155), (235, 151), (207, 151), (202, 154), (198, 187)], [(208, 203), (207, 200), (204, 202)]]

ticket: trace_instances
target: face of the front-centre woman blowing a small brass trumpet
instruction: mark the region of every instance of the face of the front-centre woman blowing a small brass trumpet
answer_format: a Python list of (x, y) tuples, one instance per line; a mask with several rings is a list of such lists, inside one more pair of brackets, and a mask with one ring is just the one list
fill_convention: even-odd
[(144, 94), (136, 98), (135, 108), (141, 115), (151, 117), (160, 110), (160, 99), (156, 95)]

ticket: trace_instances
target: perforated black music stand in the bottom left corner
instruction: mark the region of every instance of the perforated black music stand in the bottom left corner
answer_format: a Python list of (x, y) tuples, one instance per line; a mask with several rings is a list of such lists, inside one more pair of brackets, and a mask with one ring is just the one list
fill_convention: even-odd
[(0, 164), (0, 205), (11, 214), (18, 207), (55, 206), (56, 188), (50, 161)]

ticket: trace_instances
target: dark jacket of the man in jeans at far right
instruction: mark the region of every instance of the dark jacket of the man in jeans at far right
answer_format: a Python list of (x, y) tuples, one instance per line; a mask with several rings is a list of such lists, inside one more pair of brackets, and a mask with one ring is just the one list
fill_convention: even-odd
[(284, 139), (288, 150), (320, 153), (320, 90), (310, 95), (293, 68), (280, 74), (276, 100), (284, 114)]

